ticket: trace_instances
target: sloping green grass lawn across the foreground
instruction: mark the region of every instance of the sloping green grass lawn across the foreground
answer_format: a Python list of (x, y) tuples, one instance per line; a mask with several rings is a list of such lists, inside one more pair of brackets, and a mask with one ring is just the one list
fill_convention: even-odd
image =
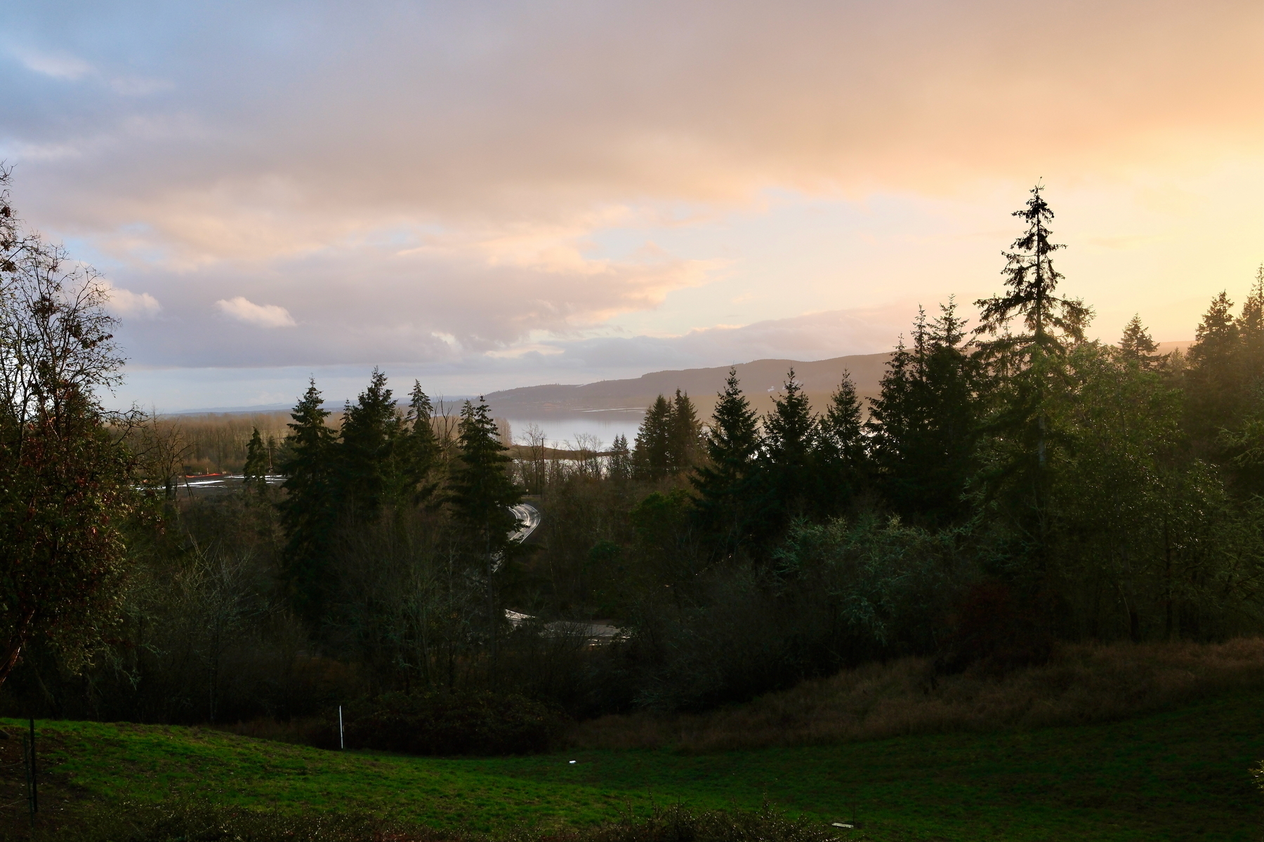
[[(16, 722), (10, 722), (16, 726)], [(497, 832), (653, 804), (865, 826), (873, 839), (1251, 839), (1264, 713), (1225, 697), (1115, 725), (714, 755), (595, 751), (435, 760), (330, 752), (200, 728), (38, 722), (46, 768), (106, 800), (196, 794)], [(570, 760), (578, 762), (570, 764)]]

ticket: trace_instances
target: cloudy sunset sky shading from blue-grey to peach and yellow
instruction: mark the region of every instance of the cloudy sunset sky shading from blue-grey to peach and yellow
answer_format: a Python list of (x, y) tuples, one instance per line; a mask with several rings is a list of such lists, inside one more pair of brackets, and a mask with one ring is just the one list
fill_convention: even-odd
[(1001, 289), (1193, 338), (1264, 260), (1255, 0), (10, 0), (0, 159), (161, 412), (890, 350)]

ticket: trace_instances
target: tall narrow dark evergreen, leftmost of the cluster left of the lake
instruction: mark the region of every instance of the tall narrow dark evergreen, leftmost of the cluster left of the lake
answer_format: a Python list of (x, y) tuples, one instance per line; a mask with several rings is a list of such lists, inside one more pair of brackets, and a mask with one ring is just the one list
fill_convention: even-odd
[(329, 542), (337, 513), (335, 437), (325, 419), (316, 381), (295, 405), (286, 461), (286, 495), (278, 504), (286, 533), (286, 577), (298, 608), (308, 621), (320, 617), (326, 596)]

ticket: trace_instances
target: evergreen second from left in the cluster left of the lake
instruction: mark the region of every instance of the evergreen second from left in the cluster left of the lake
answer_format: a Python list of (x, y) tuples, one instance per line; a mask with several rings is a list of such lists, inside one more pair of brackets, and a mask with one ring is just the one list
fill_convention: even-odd
[(391, 501), (396, 482), (394, 449), (401, 438), (401, 418), (387, 376), (374, 369), (368, 388), (343, 414), (337, 448), (339, 496), (351, 519), (373, 519)]

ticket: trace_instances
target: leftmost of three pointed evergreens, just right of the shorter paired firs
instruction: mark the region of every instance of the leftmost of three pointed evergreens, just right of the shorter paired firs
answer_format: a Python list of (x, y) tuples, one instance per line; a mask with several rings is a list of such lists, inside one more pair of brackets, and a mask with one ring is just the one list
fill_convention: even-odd
[(742, 394), (737, 369), (729, 369), (703, 441), (707, 461), (690, 477), (698, 492), (695, 518), (726, 555), (756, 528), (760, 446), (758, 419)]

